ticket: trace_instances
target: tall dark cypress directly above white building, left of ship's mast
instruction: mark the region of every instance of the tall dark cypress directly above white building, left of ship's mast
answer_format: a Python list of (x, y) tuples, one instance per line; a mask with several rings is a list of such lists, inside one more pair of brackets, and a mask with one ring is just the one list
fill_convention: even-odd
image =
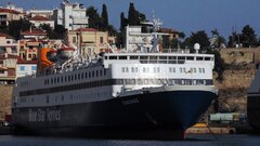
[(133, 3), (130, 3), (129, 5), (128, 23), (130, 26), (140, 24), (139, 12), (135, 10)]

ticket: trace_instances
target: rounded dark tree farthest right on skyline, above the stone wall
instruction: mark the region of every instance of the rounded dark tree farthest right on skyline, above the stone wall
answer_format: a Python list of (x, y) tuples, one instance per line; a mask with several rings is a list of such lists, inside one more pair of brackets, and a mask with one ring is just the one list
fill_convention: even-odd
[(246, 48), (257, 45), (257, 36), (250, 25), (246, 25), (242, 30), (242, 43)]

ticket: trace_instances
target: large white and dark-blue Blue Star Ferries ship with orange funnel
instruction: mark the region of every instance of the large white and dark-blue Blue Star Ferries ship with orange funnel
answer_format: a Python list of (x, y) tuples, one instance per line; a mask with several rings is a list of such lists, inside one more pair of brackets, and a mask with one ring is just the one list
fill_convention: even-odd
[(110, 49), (88, 59), (77, 48), (40, 49), (37, 75), (18, 78), (13, 90), (15, 127), (44, 134), (183, 138), (218, 95), (214, 56), (164, 53), (158, 34), (153, 36), (151, 50)]

